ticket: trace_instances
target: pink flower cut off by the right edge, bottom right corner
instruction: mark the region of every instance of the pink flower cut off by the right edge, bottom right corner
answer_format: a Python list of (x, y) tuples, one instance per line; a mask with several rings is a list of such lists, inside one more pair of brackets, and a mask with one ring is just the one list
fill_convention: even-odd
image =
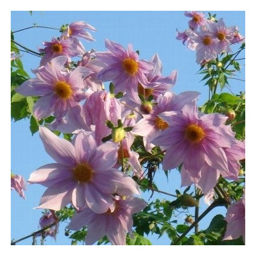
[(227, 229), (223, 240), (237, 239), (242, 236), (245, 243), (245, 193), (244, 196), (228, 208)]

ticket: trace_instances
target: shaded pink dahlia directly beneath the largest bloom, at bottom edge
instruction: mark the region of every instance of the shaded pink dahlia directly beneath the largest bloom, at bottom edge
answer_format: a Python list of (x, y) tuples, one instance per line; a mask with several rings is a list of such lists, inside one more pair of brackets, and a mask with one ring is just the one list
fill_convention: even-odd
[(103, 214), (96, 214), (89, 208), (76, 213), (67, 228), (79, 230), (87, 226), (86, 244), (92, 245), (106, 236), (112, 245), (126, 245), (126, 234), (131, 232), (131, 215), (143, 210), (147, 203), (135, 197), (115, 197), (112, 206)]

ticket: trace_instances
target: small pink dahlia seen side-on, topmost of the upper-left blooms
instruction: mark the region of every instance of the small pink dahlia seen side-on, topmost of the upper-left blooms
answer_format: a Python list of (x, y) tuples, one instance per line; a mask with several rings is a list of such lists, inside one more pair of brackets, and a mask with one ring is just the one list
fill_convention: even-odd
[(86, 29), (89, 29), (91, 31), (96, 31), (95, 27), (92, 27), (92, 25), (85, 23), (83, 21), (72, 22), (71, 24), (68, 25), (67, 29), (63, 31), (62, 36), (65, 38), (80, 37), (87, 41), (95, 41), (93, 36), (89, 32), (87, 32)]

